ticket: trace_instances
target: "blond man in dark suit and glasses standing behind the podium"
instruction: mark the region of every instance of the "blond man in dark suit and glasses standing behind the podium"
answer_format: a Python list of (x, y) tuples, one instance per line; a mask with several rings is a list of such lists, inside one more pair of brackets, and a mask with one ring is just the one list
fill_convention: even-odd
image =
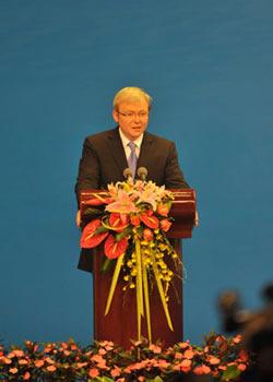
[[(124, 87), (114, 98), (116, 129), (86, 138), (75, 184), (81, 190), (104, 189), (123, 180), (123, 170), (147, 169), (147, 180), (166, 188), (189, 188), (178, 164), (175, 143), (146, 132), (151, 96), (139, 87)], [(90, 250), (82, 250), (79, 268), (92, 271)]]

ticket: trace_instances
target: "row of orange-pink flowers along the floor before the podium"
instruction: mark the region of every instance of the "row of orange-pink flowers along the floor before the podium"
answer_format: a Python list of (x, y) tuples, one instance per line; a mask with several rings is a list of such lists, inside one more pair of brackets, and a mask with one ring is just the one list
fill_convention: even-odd
[(81, 347), (74, 341), (5, 348), (0, 345), (0, 381), (162, 382), (181, 374), (236, 381), (250, 366), (241, 337), (212, 333), (203, 346), (178, 343), (165, 350), (159, 344), (136, 342), (130, 350), (111, 342)]

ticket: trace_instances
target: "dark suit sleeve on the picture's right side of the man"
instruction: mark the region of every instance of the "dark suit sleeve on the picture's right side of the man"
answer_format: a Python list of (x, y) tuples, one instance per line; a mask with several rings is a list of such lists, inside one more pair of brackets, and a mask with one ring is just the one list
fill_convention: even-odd
[(165, 168), (165, 184), (169, 189), (188, 189), (183, 172), (178, 163), (177, 150), (174, 142), (170, 142), (169, 152)]

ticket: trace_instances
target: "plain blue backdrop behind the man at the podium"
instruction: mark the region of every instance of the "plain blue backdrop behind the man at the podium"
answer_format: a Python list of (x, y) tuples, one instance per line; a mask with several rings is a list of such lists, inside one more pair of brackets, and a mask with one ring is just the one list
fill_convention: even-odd
[(76, 271), (73, 186), (84, 136), (114, 127), (123, 86), (154, 98), (198, 192), (185, 242), (185, 332), (218, 331), (215, 299), (248, 307), (272, 280), (273, 2), (0, 0), (0, 339), (93, 336)]

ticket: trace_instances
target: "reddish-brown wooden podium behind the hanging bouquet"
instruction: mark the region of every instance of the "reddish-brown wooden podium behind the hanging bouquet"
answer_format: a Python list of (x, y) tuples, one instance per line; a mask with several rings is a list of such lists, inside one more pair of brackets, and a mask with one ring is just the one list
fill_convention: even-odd
[[(175, 218), (168, 231), (177, 253), (181, 255), (180, 239), (190, 238), (195, 216), (195, 192), (191, 189), (171, 190), (175, 196), (170, 216)], [(84, 190), (81, 193), (81, 216), (87, 205), (85, 202), (91, 199), (94, 192), (102, 190)], [(116, 345), (128, 349), (136, 341), (136, 299), (135, 290), (122, 290), (122, 275), (117, 284), (109, 313), (105, 317), (105, 307), (110, 288), (112, 271), (102, 274), (100, 265), (104, 258), (103, 247), (93, 249), (94, 256), (94, 338), (96, 341), (112, 341)], [(168, 264), (170, 267), (173, 264)], [(174, 266), (173, 266), (174, 270)], [(163, 310), (162, 301), (156, 285), (150, 291), (150, 308), (152, 321), (152, 341), (161, 341), (164, 347), (182, 341), (182, 267), (174, 270), (178, 277), (174, 277), (174, 285), (169, 288), (168, 309), (171, 318), (174, 332), (169, 330)], [(147, 338), (146, 322), (142, 320), (142, 335)]]

